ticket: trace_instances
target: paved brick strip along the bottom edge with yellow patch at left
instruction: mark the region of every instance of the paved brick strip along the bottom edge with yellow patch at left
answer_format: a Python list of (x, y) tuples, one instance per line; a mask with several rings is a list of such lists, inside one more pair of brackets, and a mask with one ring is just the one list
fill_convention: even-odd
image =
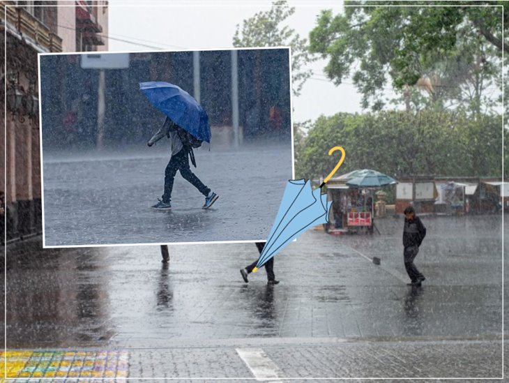
[[(8, 377), (158, 377), (178, 378), (179, 382), (190, 381), (185, 378), (207, 381), (206, 378), (223, 377), (230, 382), (245, 382), (255, 377), (269, 381), (272, 377), (337, 382), (326, 378), (499, 378), (502, 374), (499, 341), (343, 343), (335, 339), (299, 339), (298, 342), (282, 338), (278, 343), (259, 342), (248, 347), (183, 345), (108, 352), (8, 352)], [(474, 360), (476, 363), (472, 363)], [(508, 368), (507, 361), (505, 368)], [(17, 379), (15, 382), (28, 381)]]

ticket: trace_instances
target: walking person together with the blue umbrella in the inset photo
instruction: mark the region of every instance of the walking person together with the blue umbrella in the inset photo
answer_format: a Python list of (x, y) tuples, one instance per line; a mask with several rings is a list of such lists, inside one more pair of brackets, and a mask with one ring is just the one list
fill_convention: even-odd
[(139, 89), (154, 107), (166, 115), (162, 128), (149, 140), (149, 147), (166, 135), (170, 139), (172, 150), (172, 156), (165, 170), (162, 200), (151, 207), (158, 210), (172, 209), (173, 183), (175, 174), (179, 170), (182, 177), (205, 196), (205, 204), (202, 209), (210, 208), (219, 196), (205, 186), (189, 167), (189, 156), (192, 165), (196, 167), (192, 148), (199, 147), (202, 141), (211, 142), (211, 128), (206, 112), (195, 98), (174, 84), (141, 82)]

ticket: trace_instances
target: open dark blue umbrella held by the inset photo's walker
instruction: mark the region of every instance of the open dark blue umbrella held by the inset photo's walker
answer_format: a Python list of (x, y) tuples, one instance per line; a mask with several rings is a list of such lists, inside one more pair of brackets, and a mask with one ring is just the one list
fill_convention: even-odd
[(140, 82), (139, 89), (151, 104), (198, 140), (211, 142), (205, 110), (188, 92), (169, 82)]

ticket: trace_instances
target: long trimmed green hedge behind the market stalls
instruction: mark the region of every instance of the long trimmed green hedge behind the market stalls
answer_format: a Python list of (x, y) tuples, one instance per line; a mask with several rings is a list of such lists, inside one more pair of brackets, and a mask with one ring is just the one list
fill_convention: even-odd
[(296, 172), (309, 179), (325, 176), (337, 162), (328, 150), (340, 145), (346, 151), (341, 173), (368, 168), (396, 179), (501, 177), (501, 123), (500, 116), (473, 120), (465, 113), (432, 110), (320, 117), (299, 151)]

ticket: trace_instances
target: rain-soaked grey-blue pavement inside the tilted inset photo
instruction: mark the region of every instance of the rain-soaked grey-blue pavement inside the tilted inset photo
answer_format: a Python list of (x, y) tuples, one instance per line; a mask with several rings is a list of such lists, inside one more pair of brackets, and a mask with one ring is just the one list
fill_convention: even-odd
[(44, 154), (46, 246), (265, 239), (291, 179), (291, 145), (213, 146), (195, 151), (197, 177), (220, 198), (205, 198), (180, 173), (172, 211), (154, 211), (167, 146), (127, 153)]

